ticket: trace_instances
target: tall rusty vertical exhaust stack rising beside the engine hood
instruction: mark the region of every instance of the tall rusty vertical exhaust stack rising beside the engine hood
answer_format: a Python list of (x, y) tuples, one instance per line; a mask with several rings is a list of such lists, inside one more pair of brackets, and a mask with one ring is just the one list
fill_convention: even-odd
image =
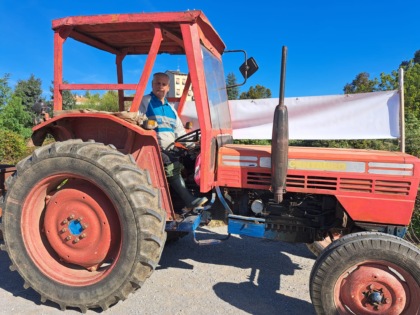
[(284, 105), (286, 57), (287, 47), (283, 46), (279, 105), (277, 105), (274, 110), (273, 134), (271, 138), (271, 186), (274, 193), (274, 200), (277, 203), (281, 203), (283, 201), (283, 191), (286, 188), (289, 150), (289, 122), (287, 107)]

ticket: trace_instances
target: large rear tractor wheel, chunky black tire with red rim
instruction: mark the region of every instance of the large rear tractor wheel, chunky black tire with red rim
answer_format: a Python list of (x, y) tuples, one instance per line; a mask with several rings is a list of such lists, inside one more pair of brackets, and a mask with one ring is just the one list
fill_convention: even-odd
[(2, 249), (42, 302), (106, 310), (159, 262), (166, 238), (159, 193), (115, 148), (81, 140), (41, 147), (7, 186)]

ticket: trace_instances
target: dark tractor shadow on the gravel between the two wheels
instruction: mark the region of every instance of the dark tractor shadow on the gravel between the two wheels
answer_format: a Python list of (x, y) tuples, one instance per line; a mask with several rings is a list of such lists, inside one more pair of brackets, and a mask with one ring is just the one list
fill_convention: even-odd
[[(208, 230), (200, 232), (197, 233), (197, 238), (218, 237)], [(301, 269), (284, 254), (285, 252), (314, 260), (304, 244), (289, 244), (251, 237), (230, 237), (221, 244), (200, 246), (193, 242), (192, 235), (187, 235), (178, 242), (165, 246), (158, 269), (192, 269), (192, 265), (183, 261), (188, 259), (218, 265), (221, 270), (226, 266), (251, 269), (247, 281), (239, 284), (231, 282), (215, 284), (213, 290), (216, 295), (236, 308), (255, 315), (315, 314), (311, 303), (279, 292), (279, 289), (282, 291), (282, 276), (294, 275), (296, 270)], [(292, 291), (294, 296), (308, 294), (307, 291), (299, 292), (293, 287), (289, 287), (289, 291)]]

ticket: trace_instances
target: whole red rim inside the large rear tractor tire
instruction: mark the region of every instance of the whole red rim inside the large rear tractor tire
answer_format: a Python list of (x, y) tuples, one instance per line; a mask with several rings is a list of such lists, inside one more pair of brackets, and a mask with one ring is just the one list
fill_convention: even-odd
[(31, 189), (22, 207), (21, 229), (37, 268), (66, 285), (100, 281), (121, 250), (116, 207), (99, 186), (74, 174), (44, 178)]

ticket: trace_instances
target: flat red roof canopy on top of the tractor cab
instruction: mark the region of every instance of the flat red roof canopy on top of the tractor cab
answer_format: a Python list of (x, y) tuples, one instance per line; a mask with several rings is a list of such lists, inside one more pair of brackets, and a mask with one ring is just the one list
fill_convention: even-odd
[(74, 16), (53, 20), (52, 28), (62, 38), (70, 37), (112, 54), (141, 55), (149, 53), (158, 26), (163, 34), (159, 53), (185, 54), (180, 25), (195, 23), (202, 43), (222, 54), (223, 41), (199, 10)]

